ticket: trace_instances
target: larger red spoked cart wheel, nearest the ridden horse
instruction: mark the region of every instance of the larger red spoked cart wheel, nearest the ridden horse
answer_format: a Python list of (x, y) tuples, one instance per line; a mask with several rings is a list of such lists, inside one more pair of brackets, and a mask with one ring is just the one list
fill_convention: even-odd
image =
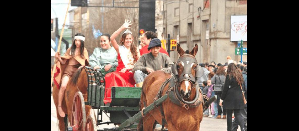
[(86, 123), (86, 112), (84, 98), (81, 92), (76, 92), (74, 96), (72, 113), (71, 113), (71, 127), (73, 131), (83, 130)]

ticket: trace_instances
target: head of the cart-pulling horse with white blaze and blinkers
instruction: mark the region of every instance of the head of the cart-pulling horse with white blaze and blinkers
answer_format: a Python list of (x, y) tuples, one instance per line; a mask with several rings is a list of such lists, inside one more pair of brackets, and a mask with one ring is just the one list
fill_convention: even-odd
[(179, 86), (176, 88), (180, 91), (179, 93), (183, 99), (190, 101), (195, 97), (196, 77), (202, 75), (202, 71), (198, 68), (199, 66), (195, 58), (198, 46), (195, 44), (193, 50), (189, 52), (189, 50), (184, 51), (180, 44), (178, 44), (177, 50), (180, 57), (178, 63), (172, 67), (173, 74), (178, 78), (177, 82)]

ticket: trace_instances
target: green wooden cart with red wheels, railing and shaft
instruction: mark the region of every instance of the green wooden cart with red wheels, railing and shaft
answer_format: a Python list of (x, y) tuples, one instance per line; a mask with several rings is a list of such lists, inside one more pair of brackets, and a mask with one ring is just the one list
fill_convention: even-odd
[[(105, 79), (99, 70), (94, 71), (91, 67), (85, 67), (84, 70), (88, 75), (88, 93), (87, 101), (84, 101), (81, 92), (75, 94), (73, 102), (73, 116), (74, 120), (71, 121), (71, 131), (74, 127), (82, 126), (84, 131), (95, 131), (96, 127), (102, 124), (120, 124), (115, 128), (104, 128), (97, 131), (110, 131), (110, 130), (136, 130), (139, 120), (141, 119), (141, 111), (138, 104), (141, 96), (141, 87), (112, 87), (111, 88), (111, 103), (104, 104), (105, 93)], [(156, 106), (161, 104), (167, 99), (167, 95), (161, 97), (155, 103)], [(85, 116), (85, 105), (90, 105), (92, 109), (97, 109), (97, 120), (91, 116)], [(154, 104), (149, 105), (143, 110), (143, 114), (147, 114), (154, 108)], [(110, 113), (110, 121), (103, 122), (103, 113)], [(107, 115), (107, 114), (106, 114)], [(77, 116), (77, 117), (76, 117)], [(108, 116), (108, 115), (107, 115)], [(85, 118), (86, 117), (86, 118)]]

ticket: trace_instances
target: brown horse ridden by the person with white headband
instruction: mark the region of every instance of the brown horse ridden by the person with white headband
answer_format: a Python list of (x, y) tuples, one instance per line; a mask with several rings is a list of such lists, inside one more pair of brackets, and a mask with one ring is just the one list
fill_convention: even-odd
[[(76, 73), (72, 76), (72, 78), (68, 81), (68, 84), (65, 89), (64, 98), (62, 100), (62, 109), (63, 111), (68, 114), (68, 121), (71, 120), (71, 112), (72, 112), (72, 106), (74, 101), (74, 95), (77, 91), (80, 91), (83, 94), (84, 101), (87, 101), (87, 87), (88, 87), (88, 81), (87, 81), (87, 74), (83, 68), (79, 68)], [(79, 89), (79, 90), (78, 90)], [(57, 110), (57, 118), (59, 120), (59, 129), (61, 131), (65, 130), (65, 122), (64, 118), (60, 117), (58, 113), (58, 92), (59, 89), (54, 84), (53, 87), (53, 99), (54, 104), (56, 106)], [(89, 115), (90, 112), (90, 106), (85, 105), (85, 113), (86, 116)]]

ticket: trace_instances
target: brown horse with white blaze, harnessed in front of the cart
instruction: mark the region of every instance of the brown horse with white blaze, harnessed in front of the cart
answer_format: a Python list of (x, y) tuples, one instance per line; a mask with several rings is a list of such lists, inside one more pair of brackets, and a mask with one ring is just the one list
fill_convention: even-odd
[[(181, 49), (180, 45), (177, 46), (178, 53), (180, 54), (180, 58), (184, 54), (183, 57), (192, 57), (195, 56), (198, 50), (197, 44), (193, 48), (193, 50), (189, 53), (189, 51), (184, 51)], [(192, 55), (192, 56), (191, 56)], [(194, 58), (194, 57), (193, 57)], [(188, 64), (189, 65), (189, 64)], [(191, 74), (195, 76), (196, 74), (196, 66), (197, 63), (191, 64), (190, 67), (184, 67), (183, 62), (177, 63), (177, 70), (179, 76), (182, 74), (184, 68), (187, 70), (190, 70)], [(191, 77), (187, 74), (183, 74), (185, 77)], [(145, 106), (148, 106), (149, 104), (152, 104), (154, 101), (155, 96), (157, 95), (161, 85), (164, 83), (165, 80), (168, 78), (171, 78), (170, 74), (166, 74), (163, 71), (155, 71), (153, 73), (150, 73), (144, 80), (143, 83), (143, 93), (141, 94), (140, 99), (140, 107), (141, 109)], [(162, 91), (162, 96), (166, 94), (166, 91), (168, 90), (168, 87), (170, 85), (170, 82), (166, 84), (165, 88)], [(196, 89), (191, 88), (192, 83), (188, 80), (183, 80), (179, 82), (179, 86), (177, 87), (180, 91), (180, 95), (185, 101), (193, 101), (193, 99), (196, 96)], [(202, 96), (201, 96), (202, 98)], [(143, 102), (144, 101), (144, 102)], [(200, 99), (202, 101), (202, 99)], [(144, 106), (145, 104), (145, 106)], [(202, 103), (199, 104), (197, 107), (189, 107), (185, 108), (184, 106), (179, 106), (174, 104), (172, 101), (170, 101), (170, 98), (168, 97), (160, 106), (162, 106), (162, 109), (165, 114), (165, 120), (167, 124), (165, 123), (165, 127), (167, 127), (170, 131), (181, 131), (181, 130), (190, 130), (190, 131), (198, 131), (199, 130), (199, 123), (202, 121), (202, 112), (203, 112), (203, 105)], [(159, 108), (159, 106), (158, 106)], [(144, 131), (152, 131), (155, 127), (155, 121), (162, 124), (162, 115), (158, 108), (154, 108), (154, 110), (151, 110), (147, 115), (145, 115), (142, 120), (138, 124), (139, 130)], [(141, 125), (143, 124), (143, 125)]]

